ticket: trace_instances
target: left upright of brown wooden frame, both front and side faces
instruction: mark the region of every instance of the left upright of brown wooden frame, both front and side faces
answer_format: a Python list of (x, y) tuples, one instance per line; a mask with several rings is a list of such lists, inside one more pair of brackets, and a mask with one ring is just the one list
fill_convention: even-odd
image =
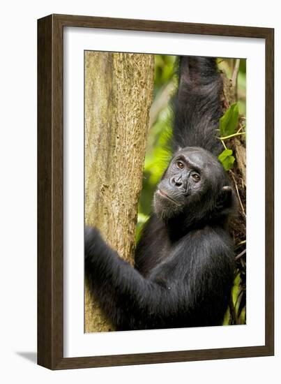
[(38, 20), (38, 364), (63, 357), (63, 31)]

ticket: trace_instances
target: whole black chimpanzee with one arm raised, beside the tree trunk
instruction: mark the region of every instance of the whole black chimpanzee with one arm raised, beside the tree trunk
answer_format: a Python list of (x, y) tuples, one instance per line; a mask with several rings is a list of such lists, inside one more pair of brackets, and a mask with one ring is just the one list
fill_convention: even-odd
[(86, 277), (117, 330), (222, 324), (234, 279), (227, 223), (235, 198), (216, 157), (221, 94), (215, 59), (181, 57), (176, 152), (155, 192), (135, 268), (86, 228)]

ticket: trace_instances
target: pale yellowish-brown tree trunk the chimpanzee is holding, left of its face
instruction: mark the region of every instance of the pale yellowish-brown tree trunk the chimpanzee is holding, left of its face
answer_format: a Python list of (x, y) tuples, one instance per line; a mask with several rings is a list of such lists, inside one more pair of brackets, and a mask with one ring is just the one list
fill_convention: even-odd
[[(133, 263), (153, 56), (85, 52), (85, 221)], [(113, 330), (85, 286), (85, 332)]]

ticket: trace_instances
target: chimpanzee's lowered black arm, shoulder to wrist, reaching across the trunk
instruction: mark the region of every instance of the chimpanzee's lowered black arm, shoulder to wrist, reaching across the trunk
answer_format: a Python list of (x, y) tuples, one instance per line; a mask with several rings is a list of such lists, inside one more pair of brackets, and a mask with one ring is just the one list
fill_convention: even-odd
[[(225, 276), (218, 280), (212, 274), (217, 263), (208, 265), (206, 255), (199, 255), (202, 260), (188, 261), (182, 254), (182, 249), (187, 249), (185, 244), (180, 249), (179, 255), (158, 265), (151, 278), (145, 279), (105, 244), (98, 230), (86, 229), (86, 276), (91, 278), (102, 309), (118, 330), (218, 325), (222, 320), (227, 304), (216, 295), (225, 295)], [(194, 269), (190, 274), (191, 264)], [(229, 292), (229, 286), (225, 291)]]

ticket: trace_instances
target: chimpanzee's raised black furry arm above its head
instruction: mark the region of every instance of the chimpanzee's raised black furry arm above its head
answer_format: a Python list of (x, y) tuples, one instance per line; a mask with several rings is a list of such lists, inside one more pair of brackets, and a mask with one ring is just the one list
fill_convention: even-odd
[(181, 57), (179, 90), (174, 99), (174, 150), (201, 147), (215, 155), (222, 152), (215, 138), (222, 116), (222, 77), (215, 59)]

